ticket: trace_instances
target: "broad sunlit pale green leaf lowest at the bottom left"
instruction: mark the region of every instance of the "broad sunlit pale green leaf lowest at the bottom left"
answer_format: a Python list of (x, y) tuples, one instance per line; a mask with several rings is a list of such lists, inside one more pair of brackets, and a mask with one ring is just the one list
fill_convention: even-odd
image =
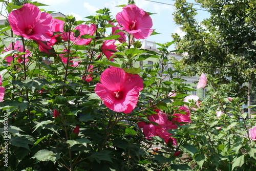
[(36, 158), (39, 161), (52, 161), (55, 163), (58, 159), (60, 159), (60, 155), (53, 153), (52, 151), (49, 151), (48, 149), (41, 149), (31, 158), (32, 159)]

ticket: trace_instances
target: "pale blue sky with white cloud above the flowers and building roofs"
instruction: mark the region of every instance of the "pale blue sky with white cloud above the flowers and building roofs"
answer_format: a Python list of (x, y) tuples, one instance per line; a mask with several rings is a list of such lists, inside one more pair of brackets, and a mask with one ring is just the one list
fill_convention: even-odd
[[(184, 35), (174, 23), (173, 12), (174, 6), (172, 6), (174, 0), (152, 0), (160, 3), (150, 2), (146, 0), (135, 0), (136, 5), (142, 8), (144, 11), (156, 13), (151, 15), (153, 19), (153, 29), (156, 32), (161, 33), (158, 35), (153, 35), (147, 38), (149, 41), (156, 41), (158, 43), (164, 43), (172, 41), (172, 33), (178, 33), (179, 35)], [(122, 10), (121, 7), (116, 7), (118, 5), (127, 4), (128, 0), (38, 0), (40, 3), (47, 4), (49, 6), (41, 7), (48, 11), (61, 12), (65, 15), (72, 14), (78, 20), (87, 20), (83, 18), (89, 15), (95, 15), (96, 10), (103, 9), (104, 7), (110, 8), (113, 17)], [(193, 0), (187, 0), (189, 3), (193, 3)], [(172, 5), (167, 5), (172, 4)], [(200, 6), (195, 6), (199, 8)], [(198, 10), (198, 20), (201, 21), (204, 17), (208, 17), (209, 14), (206, 11)], [(172, 47), (172, 50), (174, 47)]]

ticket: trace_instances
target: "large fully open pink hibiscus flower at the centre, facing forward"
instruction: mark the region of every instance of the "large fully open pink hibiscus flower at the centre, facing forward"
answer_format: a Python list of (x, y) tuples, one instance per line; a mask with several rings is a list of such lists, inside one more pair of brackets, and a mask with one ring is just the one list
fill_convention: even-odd
[(100, 76), (95, 93), (104, 104), (115, 112), (131, 113), (138, 102), (143, 80), (138, 74), (125, 73), (123, 69), (111, 67)]

